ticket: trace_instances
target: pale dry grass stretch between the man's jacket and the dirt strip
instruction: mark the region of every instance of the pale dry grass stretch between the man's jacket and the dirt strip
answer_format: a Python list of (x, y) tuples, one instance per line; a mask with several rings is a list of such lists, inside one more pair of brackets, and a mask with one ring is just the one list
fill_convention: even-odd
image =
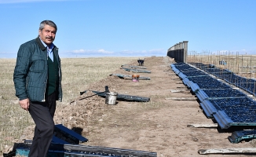
[(62, 60), (64, 103), (78, 97), (92, 82), (106, 78), (134, 57), (99, 57)]

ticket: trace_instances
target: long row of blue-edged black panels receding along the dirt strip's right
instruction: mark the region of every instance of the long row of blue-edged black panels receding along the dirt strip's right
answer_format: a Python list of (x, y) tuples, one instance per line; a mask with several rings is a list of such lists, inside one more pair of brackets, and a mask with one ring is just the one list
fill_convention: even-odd
[[(185, 85), (192, 88), (207, 117), (214, 118), (221, 129), (228, 129), (230, 126), (256, 126), (256, 101), (240, 90), (255, 93), (252, 90), (255, 88), (254, 79), (245, 79), (232, 71), (214, 68), (210, 64), (196, 64), (196, 68), (190, 64), (177, 63), (170, 67)], [(240, 89), (235, 89), (230, 84)]]

